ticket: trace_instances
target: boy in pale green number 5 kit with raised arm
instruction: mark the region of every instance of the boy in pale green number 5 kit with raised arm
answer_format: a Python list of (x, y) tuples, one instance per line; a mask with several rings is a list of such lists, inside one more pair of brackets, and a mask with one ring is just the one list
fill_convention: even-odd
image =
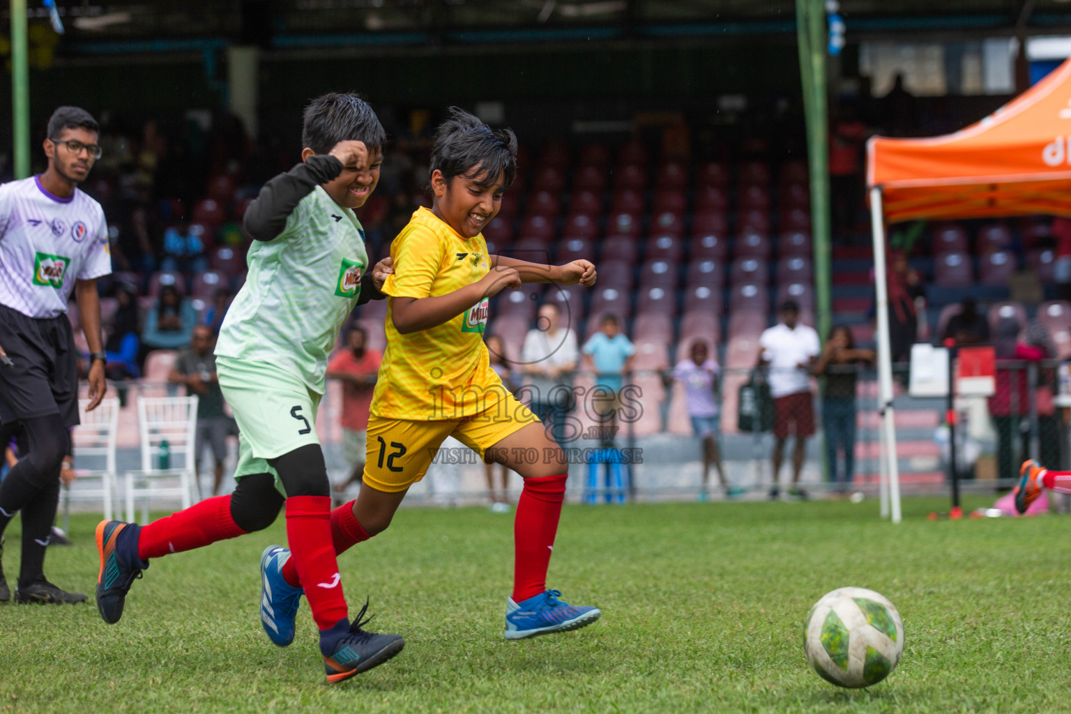
[[(241, 431), (238, 487), (144, 527), (101, 521), (96, 606), (105, 622), (118, 622), (151, 558), (267, 528), (285, 502), (290, 548), (271, 547), (262, 558), (293, 559), (320, 631), (327, 679), (341, 682), (404, 645), (396, 635), (364, 631), (364, 609), (349, 620), (314, 423), (340, 329), (355, 305), (384, 297), (379, 287), (392, 272), (389, 259), (367, 271), (364, 230), (353, 214), (379, 180), (386, 135), (353, 94), (313, 100), (304, 120), (302, 163), (269, 181), (245, 212), (255, 239), (250, 273), (215, 348), (220, 386)], [(296, 610), (299, 597), (281, 606)], [(270, 617), (265, 623), (274, 626)], [(269, 635), (289, 644), (295, 633), (276, 627)]]

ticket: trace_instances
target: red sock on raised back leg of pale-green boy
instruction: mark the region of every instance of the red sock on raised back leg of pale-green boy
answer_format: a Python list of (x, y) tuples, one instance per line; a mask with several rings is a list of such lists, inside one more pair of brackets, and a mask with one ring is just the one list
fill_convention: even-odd
[(230, 517), (230, 497), (216, 496), (142, 526), (137, 555), (149, 560), (244, 534)]

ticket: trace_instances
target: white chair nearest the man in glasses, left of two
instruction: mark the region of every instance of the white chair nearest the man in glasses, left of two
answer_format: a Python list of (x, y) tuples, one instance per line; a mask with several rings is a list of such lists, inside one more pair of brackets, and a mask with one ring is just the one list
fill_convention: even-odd
[[(112, 504), (118, 505), (116, 473), (116, 436), (119, 431), (119, 399), (104, 399), (93, 411), (86, 411), (89, 399), (78, 400), (79, 425), (71, 431), (75, 487), (63, 487), (63, 529), (71, 520), (71, 501), (104, 502), (104, 518), (111, 520)], [(82, 488), (86, 481), (100, 478), (100, 488)]]

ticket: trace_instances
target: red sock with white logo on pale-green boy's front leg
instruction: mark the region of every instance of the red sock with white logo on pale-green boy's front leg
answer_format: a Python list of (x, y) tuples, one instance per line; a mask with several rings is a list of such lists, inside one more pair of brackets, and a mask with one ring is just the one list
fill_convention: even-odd
[(286, 538), (316, 626), (328, 629), (349, 617), (342, 594), (338, 561), (331, 546), (331, 497), (288, 498)]

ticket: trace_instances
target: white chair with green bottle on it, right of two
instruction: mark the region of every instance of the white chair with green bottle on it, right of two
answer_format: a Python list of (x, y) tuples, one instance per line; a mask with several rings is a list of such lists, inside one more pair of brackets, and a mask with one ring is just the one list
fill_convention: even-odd
[[(144, 498), (141, 522), (149, 520), (153, 497), (178, 496), (182, 507), (193, 502), (197, 397), (140, 397), (137, 402), (141, 469), (126, 472), (126, 520), (134, 520), (134, 502)], [(167, 449), (164, 449), (167, 442)], [(164, 454), (166, 451), (166, 462)], [(178, 487), (154, 487), (153, 481), (178, 478)]]

